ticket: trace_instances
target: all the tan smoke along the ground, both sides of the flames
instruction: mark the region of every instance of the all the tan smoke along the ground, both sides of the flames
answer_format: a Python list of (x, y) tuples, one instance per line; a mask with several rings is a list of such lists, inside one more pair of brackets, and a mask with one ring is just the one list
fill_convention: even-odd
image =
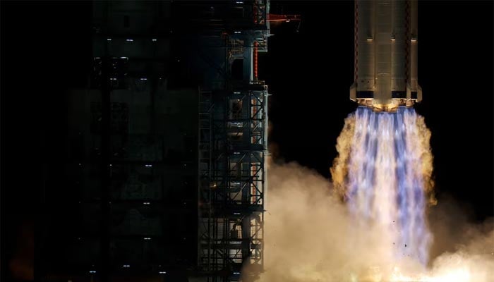
[[(434, 245), (445, 241), (450, 252), (431, 257), (423, 269), (390, 254), (392, 239), (380, 226), (356, 225), (331, 183), (315, 171), (294, 163), (271, 164), (269, 171), (265, 271), (257, 281), (494, 281), (492, 225), (459, 223), (450, 230), (442, 216), (432, 216), (438, 222), (430, 224), (439, 226), (432, 230)], [(466, 231), (470, 235), (459, 238)]]

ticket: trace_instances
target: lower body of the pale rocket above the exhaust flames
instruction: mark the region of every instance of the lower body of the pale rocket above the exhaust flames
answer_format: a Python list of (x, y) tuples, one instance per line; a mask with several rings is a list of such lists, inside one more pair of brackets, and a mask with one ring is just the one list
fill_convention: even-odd
[(375, 111), (420, 102), (417, 35), (416, 0), (356, 0), (350, 99)]

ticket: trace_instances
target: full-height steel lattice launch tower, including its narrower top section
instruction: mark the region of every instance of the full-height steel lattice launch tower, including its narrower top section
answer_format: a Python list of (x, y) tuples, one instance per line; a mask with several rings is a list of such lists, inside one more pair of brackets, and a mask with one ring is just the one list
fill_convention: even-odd
[[(207, 281), (263, 270), (268, 93), (257, 78), (257, 52), (267, 51), (267, 4), (251, 4), (251, 30), (224, 34), (226, 58), (217, 58), (223, 87), (199, 90), (198, 266)], [(243, 60), (242, 80), (231, 78), (236, 59)]]

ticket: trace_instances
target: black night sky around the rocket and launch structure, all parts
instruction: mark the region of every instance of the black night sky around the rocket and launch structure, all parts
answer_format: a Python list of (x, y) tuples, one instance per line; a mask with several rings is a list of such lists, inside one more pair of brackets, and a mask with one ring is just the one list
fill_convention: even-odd
[[(35, 222), (43, 164), (63, 166), (64, 90), (90, 68), (90, 2), (1, 2), (2, 231)], [(272, 13), (301, 13), (272, 28), (260, 78), (272, 93), (272, 143), (286, 161), (329, 177), (353, 79), (352, 1), (272, 1)], [(493, 2), (419, 4), (417, 111), (432, 130), (439, 196), (493, 216)], [(476, 130), (484, 128), (484, 130)], [(2, 243), (15, 233), (2, 233)], [(2, 252), (5, 255), (5, 252)], [(2, 259), (5, 262), (5, 259)]]

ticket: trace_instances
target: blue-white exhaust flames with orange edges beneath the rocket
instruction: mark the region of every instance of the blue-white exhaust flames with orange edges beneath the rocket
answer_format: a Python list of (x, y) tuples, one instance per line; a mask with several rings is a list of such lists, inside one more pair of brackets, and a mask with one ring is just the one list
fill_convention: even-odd
[(332, 176), (355, 224), (378, 224), (394, 257), (428, 262), (425, 219), (430, 192), (430, 132), (414, 109), (375, 113), (359, 107), (339, 137)]

